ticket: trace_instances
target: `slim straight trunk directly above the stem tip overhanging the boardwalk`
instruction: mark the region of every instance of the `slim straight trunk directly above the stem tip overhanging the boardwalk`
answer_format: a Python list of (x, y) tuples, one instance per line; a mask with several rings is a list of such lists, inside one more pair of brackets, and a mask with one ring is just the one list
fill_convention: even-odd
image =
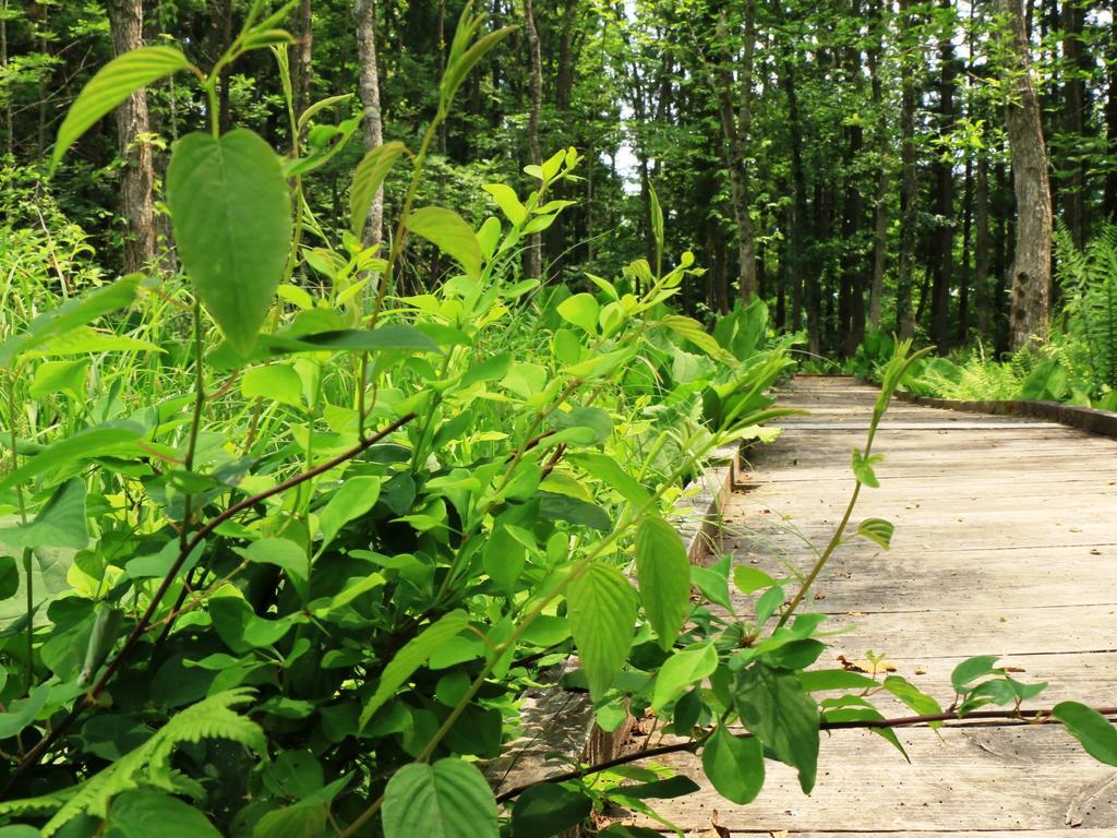
[[(907, 38), (915, 29), (911, 0), (899, 0), (900, 37)], [(896, 331), (901, 339), (915, 334), (911, 317), (911, 270), (915, 264), (916, 202), (919, 199), (919, 180), (916, 173), (915, 147), (915, 74), (913, 59), (900, 57), (900, 247), (896, 280)]]

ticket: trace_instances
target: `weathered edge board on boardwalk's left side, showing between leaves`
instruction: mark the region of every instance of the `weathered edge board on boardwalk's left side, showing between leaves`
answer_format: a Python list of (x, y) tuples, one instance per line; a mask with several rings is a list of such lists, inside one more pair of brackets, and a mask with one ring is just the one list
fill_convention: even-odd
[[(710, 455), (708, 467), (687, 485), (675, 504), (671, 520), (691, 564), (704, 563), (720, 547), (722, 513), (739, 474), (738, 450), (718, 448)], [(551, 670), (544, 686), (524, 694), (522, 735), (485, 766), (497, 794), (567, 770), (570, 766), (554, 759), (555, 754), (589, 763), (620, 754), (634, 720), (629, 716), (611, 732), (599, 727), (589, 693), (561, 685), (563, 677), (577, 669), (577, 657), (572, 655)]]

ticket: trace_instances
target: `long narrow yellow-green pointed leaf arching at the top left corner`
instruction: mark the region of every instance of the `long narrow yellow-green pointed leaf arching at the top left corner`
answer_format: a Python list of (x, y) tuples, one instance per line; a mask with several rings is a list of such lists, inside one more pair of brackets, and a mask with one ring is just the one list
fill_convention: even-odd
[(189, 66), (187, 57), (173, 47), (141, 47), (111, 60), (82, 88), (66, 113), (50, 155), (51, 169), (82, 134), (133, 93)]

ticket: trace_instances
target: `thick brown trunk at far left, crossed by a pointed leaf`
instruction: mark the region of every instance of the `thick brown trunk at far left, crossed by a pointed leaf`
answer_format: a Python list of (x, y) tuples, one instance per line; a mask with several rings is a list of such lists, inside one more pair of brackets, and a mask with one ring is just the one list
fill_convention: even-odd
[[(142, 0), (112, 0), (108, 3), (113, 54), (123, 55), (143, 46)], [(124, 159), (121, 181), (121, 212), (128, 230), (124, 237), (124, 270), (135, 273), (155, 259), (155, 203), (152, 185), (155, 168), (151, 145), (147, 95), (137, 91), (116, 108), (116, 136)]]

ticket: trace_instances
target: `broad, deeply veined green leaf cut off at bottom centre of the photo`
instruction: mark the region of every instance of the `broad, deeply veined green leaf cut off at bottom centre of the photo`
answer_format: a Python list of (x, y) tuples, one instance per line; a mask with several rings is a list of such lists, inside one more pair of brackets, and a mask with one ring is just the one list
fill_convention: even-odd
[(411, 763), (384, 790), (384, 838), (497, 838), (496, 799), (476, 765)]

